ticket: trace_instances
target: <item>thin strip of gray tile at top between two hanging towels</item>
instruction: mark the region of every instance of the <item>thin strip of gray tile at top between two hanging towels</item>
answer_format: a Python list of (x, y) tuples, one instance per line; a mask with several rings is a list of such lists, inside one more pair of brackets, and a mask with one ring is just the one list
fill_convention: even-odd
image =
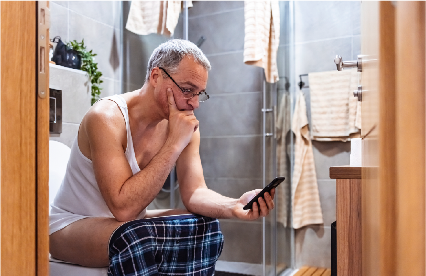
[[(238, 8), (244, 8), (244, 0), (232, 1), (212, 1), (212, 0), (193, 0), (194, 7), (188, 9), (188, 17), (203, 16), (211, 13), (218, 13)], [(192, 27), (192, 26), (191, 26)]]

